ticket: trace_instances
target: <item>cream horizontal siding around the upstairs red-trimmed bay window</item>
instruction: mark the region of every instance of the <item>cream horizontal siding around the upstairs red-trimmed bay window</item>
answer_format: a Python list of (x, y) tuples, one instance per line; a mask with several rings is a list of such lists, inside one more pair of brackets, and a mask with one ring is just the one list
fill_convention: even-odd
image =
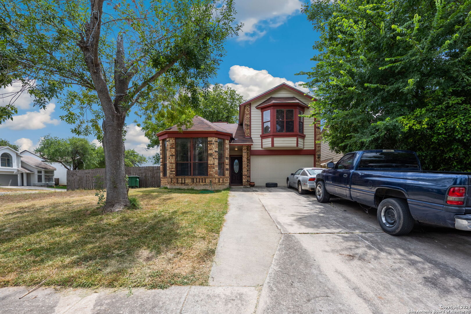
[[(293, 92), (290, 89), (277, 89), (264, 97), (260, 97), (251, 103), (251, 114), (252, 114), (252, 129), (251, 135), (253, 139), (252, 149), (262, 149), (262, 143), (260, 139), (261, 129), (262, 129), (262, 117), (260, 109), (255, 107), (260, 105), (262, 102), (267, 100), (270, 97), (296, 97), (306, 105), (309, 105), (311, 102), (309, 98), (299, 95), (298, 93)], [(304, 114), (310, 114), (310, 108), (307, 108), (304, 111)], [(314, 118), (304, 118), (304, 134), (306, 138), (304, 139), (304, 149), (314, 149)], [(295, 143), (296, 144), (296, 143)]]

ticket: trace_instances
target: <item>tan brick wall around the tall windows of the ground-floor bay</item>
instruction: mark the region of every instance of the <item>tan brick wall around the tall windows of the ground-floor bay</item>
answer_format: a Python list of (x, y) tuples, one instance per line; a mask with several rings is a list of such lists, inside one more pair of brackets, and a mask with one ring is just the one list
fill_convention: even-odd
[(225, 189), (229, 186), (229, 140), (224, 140), (225, 160), (224, 176), (218, 176), (218, 137), (208, 137), (208, 176), (176, 176), (175, 164), (175, 137), (168, 137), (161, 140), (167, 141), (167, 177), (163, 177), (163, 167), (161, 167), (161, 186), (169, 188), (195, 188), (214, 190)]

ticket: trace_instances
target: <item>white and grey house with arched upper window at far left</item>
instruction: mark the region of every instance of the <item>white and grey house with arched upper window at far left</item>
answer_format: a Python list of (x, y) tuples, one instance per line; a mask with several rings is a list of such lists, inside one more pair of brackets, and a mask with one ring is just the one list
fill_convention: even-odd
[(56, 168), (8, 146), (0, 146), (0, 186), (54, 185)]

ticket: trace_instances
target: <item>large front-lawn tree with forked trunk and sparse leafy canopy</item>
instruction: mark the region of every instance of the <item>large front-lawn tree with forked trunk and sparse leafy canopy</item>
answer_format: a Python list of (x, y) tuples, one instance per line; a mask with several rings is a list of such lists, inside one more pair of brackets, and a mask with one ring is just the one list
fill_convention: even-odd
[[(2, 1), (0, 85), (21, 82), (42, 108), (58, 98), (75, 134), (102, 141), (104, 210), (118, 211), (129, 205), (122, 138), (131, 109), (145, 119), (185, 112), (171, 99), (185, 90), (195, 102), (216, 75), (240, 29), (234, 16), (232, 0)], [(14, 103), (0, 109), (0, 122), (16, 112)]]

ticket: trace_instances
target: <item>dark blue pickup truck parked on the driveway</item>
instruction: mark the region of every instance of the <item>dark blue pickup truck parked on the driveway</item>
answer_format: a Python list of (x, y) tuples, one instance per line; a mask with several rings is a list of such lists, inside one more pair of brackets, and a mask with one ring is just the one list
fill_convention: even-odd
[(377, 208), (381, 228), (411, 232), (414, 220), (471, 231), (471, 172), (424, 171), (416, 153), (365, 150), (329, 162), (316, 176), (317, 201), (331, 195)]

